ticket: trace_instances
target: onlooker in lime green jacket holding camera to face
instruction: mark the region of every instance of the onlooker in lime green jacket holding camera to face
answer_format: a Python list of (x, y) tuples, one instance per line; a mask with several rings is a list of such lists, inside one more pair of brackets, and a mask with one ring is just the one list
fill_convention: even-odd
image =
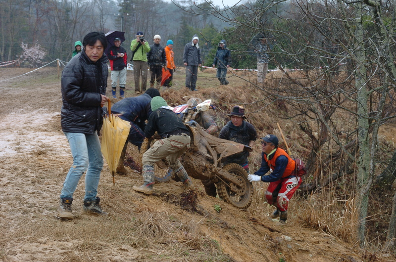
[[(150, 51), (148, 42), (144, 39), (143, 32), (136, 34), (136, 39), (132, 40), (131, 51), (133, 61), (133, 72), (135, 79), (135, 93), (140, 94), (146, 91), (147, 87), (147, 53)], [(142, 77), (142, 88), (139, 87), (139, 80)]]

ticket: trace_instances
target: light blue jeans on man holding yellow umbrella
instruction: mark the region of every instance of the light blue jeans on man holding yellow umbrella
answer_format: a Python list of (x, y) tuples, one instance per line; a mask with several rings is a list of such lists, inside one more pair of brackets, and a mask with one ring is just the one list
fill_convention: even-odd
[(78, 181), (84, 172), (85, 196), (84, 201), (95, 200), (98, 194), (100, 172), (103, 169), (103, 157), (100, 151), (98, 134), (83, 134), (64, 132), (69, 141), (73, 155), (73, 166), (63, 183), (60, 198), (73, 197)]

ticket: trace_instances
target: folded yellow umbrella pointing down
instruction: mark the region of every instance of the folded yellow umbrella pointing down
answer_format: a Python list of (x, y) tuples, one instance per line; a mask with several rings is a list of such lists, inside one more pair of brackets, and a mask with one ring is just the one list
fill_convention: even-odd
[(128, 139), (131, 124), (111, 114), (111, 102), (108, 100), (108, 115), (103, 117), (101, 151), (107, 161), (115, 184), (115, 170), (120, 160), (122, 149)]

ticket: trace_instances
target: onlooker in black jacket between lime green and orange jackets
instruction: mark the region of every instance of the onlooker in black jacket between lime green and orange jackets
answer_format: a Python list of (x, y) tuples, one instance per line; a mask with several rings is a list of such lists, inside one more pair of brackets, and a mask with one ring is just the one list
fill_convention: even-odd
[(155, 35), (154, 44), (150, 45), (150, 51), (147, 53), (147, 62), (151, 72), (150, 87), (154, 87), (156, 79), (157, 89), (161, 86), (162, 68), (167, 70), (165, 49), (159, 44), (159, 42), (161, 42), (161, 37), (159, 35)]

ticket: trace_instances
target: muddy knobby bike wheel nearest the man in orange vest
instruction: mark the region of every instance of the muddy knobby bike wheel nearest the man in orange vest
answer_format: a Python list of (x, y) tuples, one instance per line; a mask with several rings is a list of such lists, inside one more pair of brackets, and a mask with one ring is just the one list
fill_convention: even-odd
[(234, 192), (229, 185), (219, 180), (216, 183), (219, 197), (225, 202), (230, 203), (239, 209), (247, 209), (253, 199), (253, 185), (251, 182), (249, 182), (249, 180), (247, 180), (246, 170), (235, 163), (226, 165), (223, 167), (223, 170), (233, 175), (239, 176), (239, 186), (242, 187), (240, 192), (242, 191), (243, 194), (241, 195), (237, 192)]

